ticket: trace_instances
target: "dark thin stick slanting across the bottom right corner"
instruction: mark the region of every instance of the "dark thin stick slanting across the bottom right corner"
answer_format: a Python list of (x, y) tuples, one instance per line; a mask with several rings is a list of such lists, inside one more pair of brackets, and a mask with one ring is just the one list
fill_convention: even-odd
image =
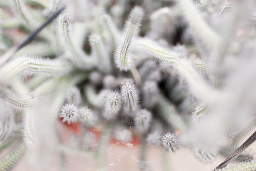
[(221, 168), (224, 168), (228, 165), (228, 163), (231, 160), (234, 160), (241, 152), (243, 152), (247, 147), (249, 147), (253, 142), (256, 140), (256, 131), (249, 137), (236, 151), (234, 151), (229, 158), (227, 158), (225, 161), (223, 161), (218, 167), (216, 167), (214, 170), (219, 170)]

